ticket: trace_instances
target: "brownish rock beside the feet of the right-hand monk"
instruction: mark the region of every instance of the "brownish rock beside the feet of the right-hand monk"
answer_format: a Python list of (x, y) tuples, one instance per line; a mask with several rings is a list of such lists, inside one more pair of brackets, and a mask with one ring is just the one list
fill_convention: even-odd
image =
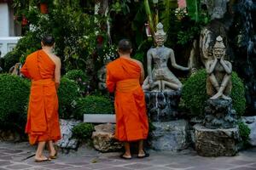
[(96, 150), (102, 152), (118, 151), (123, 148), (123, 144), (114, 139), (114, 124), (100, 124), (95, 126), (96, 132), (92, 133), (93, 145)]

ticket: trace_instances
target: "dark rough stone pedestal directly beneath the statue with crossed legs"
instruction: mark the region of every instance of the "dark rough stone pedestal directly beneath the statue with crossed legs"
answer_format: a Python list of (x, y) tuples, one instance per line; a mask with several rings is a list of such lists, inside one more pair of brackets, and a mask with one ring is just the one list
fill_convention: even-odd
[(232, 99), (208, 99), (205, 107), (204, 125), (207, 128), (236, 127), (236, 111)]

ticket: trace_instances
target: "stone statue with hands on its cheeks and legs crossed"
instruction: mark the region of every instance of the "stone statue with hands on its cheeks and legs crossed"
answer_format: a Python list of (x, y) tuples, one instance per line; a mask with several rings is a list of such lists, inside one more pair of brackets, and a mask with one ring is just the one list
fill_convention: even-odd
[(224, 60), (225, 50), (223, 39), (218, 36), (212, 48), (213, 59), (206, 63), (207, 94), (211, 99), (230, 99), (232, 65)]

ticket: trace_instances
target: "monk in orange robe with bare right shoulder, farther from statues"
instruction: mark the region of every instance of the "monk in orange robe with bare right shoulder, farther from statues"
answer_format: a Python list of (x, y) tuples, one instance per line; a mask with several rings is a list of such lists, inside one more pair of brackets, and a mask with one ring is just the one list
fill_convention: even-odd
[[(61, 78), (61, 59), (52, 53), (53, 37), (44, 37), (42, 49), (27, 56), (21, 73), (32, 80), (26, 133), (30, 144), (38, 144), (35, 161), (54, 159), (54, 142), (61, 139), (58, 116), (57, 89)], [(43, 156), (44, 145), (49, 145), (49, 157)]]

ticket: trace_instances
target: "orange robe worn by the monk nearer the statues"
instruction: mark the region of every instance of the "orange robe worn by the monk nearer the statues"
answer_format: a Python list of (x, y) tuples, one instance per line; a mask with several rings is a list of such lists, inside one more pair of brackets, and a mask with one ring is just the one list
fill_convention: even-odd
[(143, 89), (139, 84), (141, 67), (119, 58), (107, 65), (107, 88), (115, 92), (115, 138), (119, 141), (147, 139), (148, 116)]

